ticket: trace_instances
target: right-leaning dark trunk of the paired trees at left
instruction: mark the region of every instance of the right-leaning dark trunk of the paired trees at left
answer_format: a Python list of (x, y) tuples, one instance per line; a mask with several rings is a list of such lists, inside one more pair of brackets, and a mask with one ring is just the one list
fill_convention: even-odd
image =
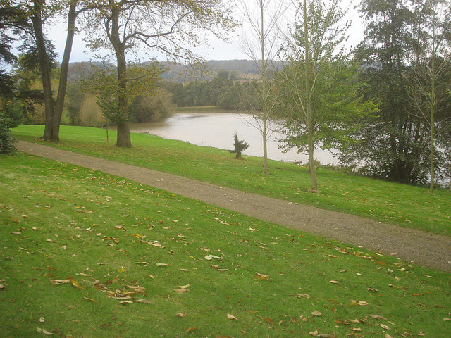
[(58, 95), (56, 96), (56, 106), (54, 116), (51, 120), (51, 139), (59, 141), (59, 126), (61, 125), (61, 116), (63, 115), (64, 99), (66, 97), (66, 87), (68, 83), (68, 68), (70, 53), (72, 51), (73, 37), (75, 35), (75, 19), (77, 13), (75, 9), (77, 7), (78, 0), (70, 1), (69, 13), (68, 13), (68, 34), (66, 37), (66, 46), (64, 48), (63, 61), (61, 62), (61, 71), (59, 75)]

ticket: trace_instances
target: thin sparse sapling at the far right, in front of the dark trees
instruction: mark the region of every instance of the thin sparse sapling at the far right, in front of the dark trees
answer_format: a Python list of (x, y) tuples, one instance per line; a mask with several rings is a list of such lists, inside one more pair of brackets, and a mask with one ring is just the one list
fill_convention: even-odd
[[(447, 8), (448, 6), (448, 8)], [(449, 4), (443, 0), (429, 0), (419, 4), (416, 9), (416, 36), (418, 51), (412, 65), (409, 99), (416, 111), (412, 112), (424, 120), (430, 128), (430, 183), (429, 192), (435, 185), (435, 125), (444, 125), (447, 116), (444, 112), (450, 104), (450, 54), (451, 23)], [(439, 130), (443, 130), (440, 128)], [(445, 145), (442, 144), (445, 149)]]

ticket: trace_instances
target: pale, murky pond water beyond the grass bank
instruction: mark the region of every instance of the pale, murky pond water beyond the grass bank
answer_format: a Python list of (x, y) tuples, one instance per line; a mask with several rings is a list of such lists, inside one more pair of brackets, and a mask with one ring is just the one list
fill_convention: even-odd
[[(166, 139), (178, 139), (197, 146), (213, 146), (219, 149), (234, 149), (233, 135), (249, 144), (245, 155), (263, 157), (261, 133), (252, 124), (252, 115), (230, 111), (204, 110), (176, 111), (166, 120), (152, 123), (130, 124), (130, 131), (160, 136)], [(283, 153), (279, 149), (277, 138), (283, 134), (274, 132), (268, 139), (268, 158), (277, 161), (307, 163), (307, 154), (298, 154), (296, 149)], [(315, 151), (315, 159), (322, 164), (338, 163), (330, 151)]]

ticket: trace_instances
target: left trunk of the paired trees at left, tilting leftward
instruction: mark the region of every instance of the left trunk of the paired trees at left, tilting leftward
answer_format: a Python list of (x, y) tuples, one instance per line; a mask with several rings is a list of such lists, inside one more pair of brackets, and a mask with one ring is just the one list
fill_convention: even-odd
[(51, 96), (50, 65), (45, 48), (44, 33), (42, 32), (43, 6), (44, 0), (33, 1), (34, 13), (31, 17), (31, 20), (33, 24), (33, 30), (35, 31), (37, 54), (39, 57), (39, 67), (42, 76), (42, 90), (44, 92), (45, 128), (43, 138), (54, 139), (54, 134), (52, 133), (51, 129), (51, 122), (54, 118), (54, 100)]

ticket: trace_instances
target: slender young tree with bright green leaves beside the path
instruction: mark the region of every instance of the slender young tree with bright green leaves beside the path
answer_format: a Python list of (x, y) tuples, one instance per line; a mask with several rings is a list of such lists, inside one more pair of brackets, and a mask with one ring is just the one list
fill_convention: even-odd
[(348, 140), (353, 121), (371, 113), (371, 103), (355, 96), (353, 69), (338, 48), (347, 25), (340, 0), (297, 2), (297, 21), (285, 49), (287, 63), (278, 72), (278, 102), (287, 137), (285, 149), (307, 150), (310, 192), (317, 192), (314, 149)]

